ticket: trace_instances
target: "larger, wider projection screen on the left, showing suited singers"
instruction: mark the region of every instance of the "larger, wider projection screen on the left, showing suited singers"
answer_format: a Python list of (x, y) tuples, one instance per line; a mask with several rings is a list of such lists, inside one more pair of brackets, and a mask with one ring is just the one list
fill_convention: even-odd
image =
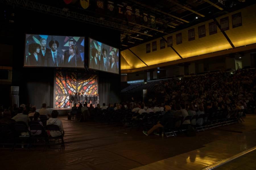
[(84, 67), (84, 37), (26, 34), (24, 67)]

